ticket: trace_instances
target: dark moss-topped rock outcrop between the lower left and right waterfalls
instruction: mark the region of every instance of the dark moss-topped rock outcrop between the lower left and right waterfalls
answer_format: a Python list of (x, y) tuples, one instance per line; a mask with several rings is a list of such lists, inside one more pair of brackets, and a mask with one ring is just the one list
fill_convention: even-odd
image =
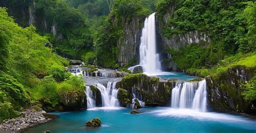
[[(132, 89), (136, 89), (136, 94), (146, 103), (146, 106), (169, 106), (171, 89), (175, 86), (175, 81), (159, 81), (156, 77), (147, 77), (143, 73), (125, 76), (118, 83), (118, 99), (123, 107), (130, 107), (133, 99)], [(130, 101), (128, 101), (130, 100)]]

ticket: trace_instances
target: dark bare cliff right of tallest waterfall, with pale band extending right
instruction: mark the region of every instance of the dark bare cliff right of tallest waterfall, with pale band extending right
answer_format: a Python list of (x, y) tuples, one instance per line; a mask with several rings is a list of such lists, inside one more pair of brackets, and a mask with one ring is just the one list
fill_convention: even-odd
[[(162, 66), (164, 70), (177, 71), (177, 64), (172, 61), (172, 55), (168, 53), (169, 49), (179, 50), (191, 43), (199, 43), (200, 41), (210, 42), (207, 32), (199, 32), (197, 30), (189, 31), (182, 34), (172, 34), (165, 36), (165, 28), (169, 19), (172, 19), (172, 14), (176, 10), (176, 5), (172, 2), (166, 5), (163, 14), (157, 15), (157, 34), (158, 34), (158, 48), (162, 57)], [(174, 27), (171, 27), (174, 28)]]

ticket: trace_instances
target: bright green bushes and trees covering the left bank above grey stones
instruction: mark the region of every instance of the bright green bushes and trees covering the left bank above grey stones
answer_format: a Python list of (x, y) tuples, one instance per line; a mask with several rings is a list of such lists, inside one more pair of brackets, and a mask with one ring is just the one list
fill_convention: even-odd
[(64, 68), (69, 62), (45, 46), (48, 37), (37, 34), (33, 26), (19, 27), (4, 8), (0, 20), (0, 121), (31, 104), (56, 107), (63, 91), (83, 91), (83, 80)]

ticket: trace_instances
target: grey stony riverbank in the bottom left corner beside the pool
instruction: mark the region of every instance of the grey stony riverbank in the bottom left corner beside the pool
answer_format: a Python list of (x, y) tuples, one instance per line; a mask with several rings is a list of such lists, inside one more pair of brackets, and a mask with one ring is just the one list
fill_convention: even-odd
[(21, 132), (27, 128), (53, 120), (52, 117), (45, 115), (44, 110), (26, 109), (21, 114), (20, 117), (1, 123), (0, 132)]

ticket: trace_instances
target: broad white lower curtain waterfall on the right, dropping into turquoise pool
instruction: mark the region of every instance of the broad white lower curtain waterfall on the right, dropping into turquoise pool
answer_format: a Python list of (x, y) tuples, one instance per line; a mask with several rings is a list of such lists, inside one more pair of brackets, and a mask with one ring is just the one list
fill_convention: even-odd
[(171, 107), (192, 108), (200, 112), (206, 112), (206, 80), (200, 82), (178, 83), (172, 89)]

